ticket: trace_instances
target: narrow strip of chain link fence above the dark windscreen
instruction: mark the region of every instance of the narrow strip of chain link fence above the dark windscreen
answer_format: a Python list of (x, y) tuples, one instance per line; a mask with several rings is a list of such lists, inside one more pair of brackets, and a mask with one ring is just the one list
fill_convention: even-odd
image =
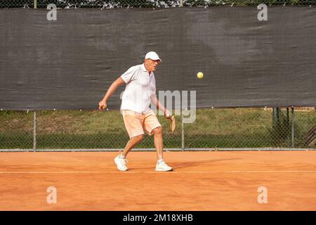
[(0, 0), (0, 8), (170, 8), (209, 6), (312, 6), (316, 0)]

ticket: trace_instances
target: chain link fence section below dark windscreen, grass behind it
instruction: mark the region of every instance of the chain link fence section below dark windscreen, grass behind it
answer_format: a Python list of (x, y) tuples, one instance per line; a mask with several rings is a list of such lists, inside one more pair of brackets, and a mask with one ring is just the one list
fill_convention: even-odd
[[(176, 116), (173, 134), (169, 120), (158, 119), (166, 149), (316, 148), (315, 108), (199, 109), (192, 124)], [(128, 140), (119, 110), (0, 112), (1, 150), (117, 150)], [(153, 150), (153, 136), (136, 148)]]

